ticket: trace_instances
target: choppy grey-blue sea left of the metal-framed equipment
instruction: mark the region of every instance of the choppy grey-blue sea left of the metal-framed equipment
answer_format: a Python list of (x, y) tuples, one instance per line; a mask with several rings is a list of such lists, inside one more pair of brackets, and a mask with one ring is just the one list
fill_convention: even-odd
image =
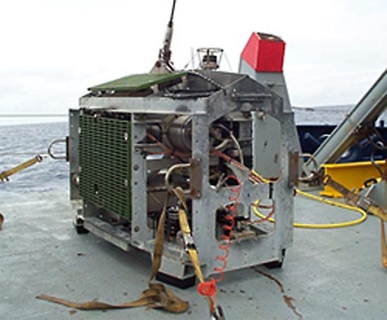
[[(46, 155), (51, 141), (65, 138), (66, 135), (66, 122), (0, 126), (0, 172), (20, 165), (35, 155)], [(61, 143), (53, 151), (64, 153), (65, 144)], [(23, 195), (30, 191), (53, 189), (68, 192), (68, 162), (44, 158), (42, 162), (13, 174), (9, 181), (0, 182), (0, 203), (6, 200), (8, 191)]]

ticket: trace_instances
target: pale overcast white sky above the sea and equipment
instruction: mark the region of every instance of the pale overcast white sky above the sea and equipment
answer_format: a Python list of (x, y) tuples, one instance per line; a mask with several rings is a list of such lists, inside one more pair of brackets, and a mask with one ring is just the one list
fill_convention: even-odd
[[(0, 114), (66, 114), (88, 87), (152, 68), (172, 0), (0, 4)], [(355, 104), (387, 68), (386, 16), (386, 0), (177, 0), (172, 61), (221, 47), (237, 72), (252, 32), (276, 34), (292, 105)]]

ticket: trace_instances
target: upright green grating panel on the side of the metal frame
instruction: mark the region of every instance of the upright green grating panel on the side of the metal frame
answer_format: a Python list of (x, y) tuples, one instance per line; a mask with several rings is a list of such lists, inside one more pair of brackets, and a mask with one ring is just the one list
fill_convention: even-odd
[(130, 121), (80, 115), (80, 194), (131, 218)]

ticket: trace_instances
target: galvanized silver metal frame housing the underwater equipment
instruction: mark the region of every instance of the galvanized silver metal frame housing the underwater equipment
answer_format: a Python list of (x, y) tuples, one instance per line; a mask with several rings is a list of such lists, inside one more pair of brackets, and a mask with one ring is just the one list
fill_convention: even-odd
[[(212, 75), (212, 73), (208, 73)], [(226, 74), (227, 75), (227, 74)], [(219, 75), (217, 75), (219, 77)], [(219, 267), (219, 262), (215, 259), (218, 246), (221, 241), (215, 238), (215, 212), (220, 205), (229, 203), (231, 191), (229, 188), (216, 190), (209, 184), (209, 140), (208, 133), (210, 124), (229, 113), (242, 113), (253, 117), (253, 127), (259, 126), (266, 119), (275, 119), (279, 126), (275, 126), (272, 134), (279, 136), (277, 141), (280, 146), (276, 146), (278, 168), (281, 177), (277, 183), (272, 184), (272, 193), (276, 202), (276, 222), (274, 227), (267, 226), (269, 232), (262, 233), (263, 236), (254, 236), (246, 239), (234, 240), (227, 261), (225, 271), (240, 269), (267, 262), (281, 262), (283, 252), (291, 245), (293, 235), (293, 184), (289, 180), (293, 177), (289, 170), (298, 170), (297, 164), (293, 162), (291, 154), (298, 150), (298, 141), (294, 134), (293, 113), (286, 110), (284, 112), (281, 97), (265, 88), (247, 76), (241, 76), (234, 82), (229, 82), (219, 91), (209, 97), (189, 99), (189, 98), (166, 98), (159, 96), (148, 96), (145, 98), (103, 98), (94, 96), (84, 96), (80, 98), (80, 108), (108, 109), (111, 112), (130, 113), (132, 118), (132, 224), (131, 233), (122, 235), (108, 226), (106, 223), (98, 221), (93, 214), (92, 208), (86, 210), (83, 203), (82, 219), (85, 220), (84, 227), (98, 236), (105, 238), (127, 250), (132, 245), (141, 250), (152, 252), (153, 231), (147, 226), (147, 203), (144, 201), (147, 192), (147, 160), (138, 148), (139, 141), (146, 136), (146, 122), (142, 120), (144, 115), (191, 115), (192, 116), (192, 157), (191, 161), (200, 164), (201, 186), (200, 194), (192, 199), (192, 231), (198, 248), (199, 259), (203, 264), (203, 274), (208, 276), (213, 274), (214, 267)], [(70, 172), (72, 176), (77, 174), (77, 111), (70, 110), (70, 144), (72, 160), (70, 160)], [(259, 118), (258, 118), (259, 117)], [(277, 128), (280, 132), (277, 132)], [(271, 126), (267, 126), (270, 130)], [(260, 139), (259, 130), (253, 130), (253, 141)], [(270, 135), (270, 133), (269, 133)], [(269, 136), (268, 135), (268, 136)], [(278, 144), (278, 143), (277, 143)], [(279, 150), (277, 150), (279, 149)], [(267, 154), (254, 154), (253, 163), (267, 161)], [(293, 157), (294, 158), (294, 157)], [(78, 172), (79, 173), (79, 172)], [(243, 173), (238, 173), (243, 181), (241, 191), (241, 203), (244, 215), (250, 216), (252, 208), (250, 203), (255, 199), (267, 198), (269, 185), (254, 185), (248, 181), (248, 177)], [(197, 182), (196, 182), (197, 183)], [(79, 194), (75, 191), (75, 179), (72, 184), (71, 196), (73, 203), (79, 203)], [(80, 208), (77, 207), (76, 215), (79, 217)], [(90, 212), (91, 210), (91, 212)], [(263, 228), (263, 226), (262, 226)], [(165, 251), (160, 271), (179, 279), (185, 279), (194, 274), (183, 248), (172, 243), (165, 243)]]

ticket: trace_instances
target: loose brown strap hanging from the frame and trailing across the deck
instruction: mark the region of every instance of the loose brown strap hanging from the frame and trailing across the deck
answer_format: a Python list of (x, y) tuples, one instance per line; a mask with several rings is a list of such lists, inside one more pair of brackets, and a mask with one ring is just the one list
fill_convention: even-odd
[(152, 272), (148, 279), (147, 290), (144, 290), (141, 297), (138, 300), (126, 302), (122, 305), (110, 305), (105, 302), (99, 301), (88, 301), (88, 302), (72, 302), (69, 300), (61, 299), (58, 297), (52, 297), (50, 295), (38, 295), (37, 298), (40, 300), (46, 300), (65, 307), (70, 307), (80, 310), (96, 310), (96, 309), (124, 309), (132, 307), (149, 307), (153, 309), (163, 309), (167, 312), (182, 313), (186, 312), (189, 307), (189, 303), (181, 300), (171, 290), (165, 287), (161, 283), (152, 283), (152, 279), (158, 273), (160, 268), (161, 258), (163, 257), (163, 243), (164, 243), (164, 225), (165, 215), (167, 211), (167, 201), (165, 200), (163, 212), (161, 213), (158, 230), (155, 238), (155, 247), (153, 249), (153, 260), (152, 260)]

